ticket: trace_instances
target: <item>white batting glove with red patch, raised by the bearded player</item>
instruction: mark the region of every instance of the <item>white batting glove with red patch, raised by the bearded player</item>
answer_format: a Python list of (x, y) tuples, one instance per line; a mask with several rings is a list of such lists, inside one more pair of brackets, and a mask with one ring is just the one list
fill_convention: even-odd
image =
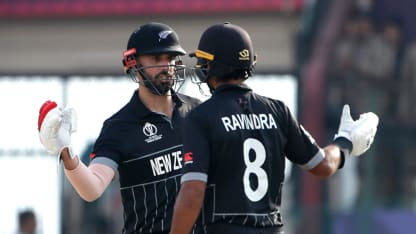
[(68, 147), (71, 157), (71, 134), (76, 131), (75, 109), (62, 109), (53, 101), (46, 101), (39, 110), (38, 130), (42, 145), (52, 155), (61, 155)]

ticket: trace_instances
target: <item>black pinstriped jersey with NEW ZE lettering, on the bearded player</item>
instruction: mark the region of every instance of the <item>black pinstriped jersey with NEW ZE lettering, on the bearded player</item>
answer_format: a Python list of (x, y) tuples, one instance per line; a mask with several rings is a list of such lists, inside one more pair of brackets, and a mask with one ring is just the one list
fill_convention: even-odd
[(130, 102), (107, 119), (91, 163), (118, 170), (124, 207), (123, 233), (168, 233), (180, 186), (181, 132), (198, 99), (173, 95), (171, 120), (150, 111), (134, 92)]

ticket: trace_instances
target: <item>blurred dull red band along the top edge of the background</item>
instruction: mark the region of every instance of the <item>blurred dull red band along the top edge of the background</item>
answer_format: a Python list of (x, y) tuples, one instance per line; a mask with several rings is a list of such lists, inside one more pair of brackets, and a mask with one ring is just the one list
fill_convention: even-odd
[(6, 17), (199, 14), (300, 10), (303, 0), (10, 0), (0, 3)]

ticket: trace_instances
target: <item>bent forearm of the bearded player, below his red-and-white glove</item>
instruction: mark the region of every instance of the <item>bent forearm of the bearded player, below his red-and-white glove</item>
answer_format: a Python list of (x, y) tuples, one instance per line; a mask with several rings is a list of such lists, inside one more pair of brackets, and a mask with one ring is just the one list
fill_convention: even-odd
[(94, 201), (101, 196), (111, 182), (114, 171), (101, 164), (86, 167), (78, 156), (71, 159), (65, 149), (61, 158), (64, 162), (65, 174), (77, 193), (86, 201)]

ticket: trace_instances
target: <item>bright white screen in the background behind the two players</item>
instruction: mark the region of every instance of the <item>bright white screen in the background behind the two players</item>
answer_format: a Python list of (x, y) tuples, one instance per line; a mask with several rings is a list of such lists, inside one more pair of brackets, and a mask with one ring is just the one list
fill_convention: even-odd
[[(297, 82), (292, 76), (255, 76), (247, 80), (254, 91), (284, 101), (296, 114)], [(129, 100), (137, 84), (129, 78), (0, 77), (0, 234), (17, 230), (17, 214), (32, 208), (39, 234), (61, 233), (62, 170), (48, 155), (37, 135), (41, 104), (54, 100), (78, 114), (78, 131), (72, 137), (76, 153), (99, 134), (103, 121)], [(205, 93), (207, 88), (203, 85)], [(195, 84), (186, 82), (182, 92), (205, 100)], [(287, 172), (290, 170), (288, 163)]]

